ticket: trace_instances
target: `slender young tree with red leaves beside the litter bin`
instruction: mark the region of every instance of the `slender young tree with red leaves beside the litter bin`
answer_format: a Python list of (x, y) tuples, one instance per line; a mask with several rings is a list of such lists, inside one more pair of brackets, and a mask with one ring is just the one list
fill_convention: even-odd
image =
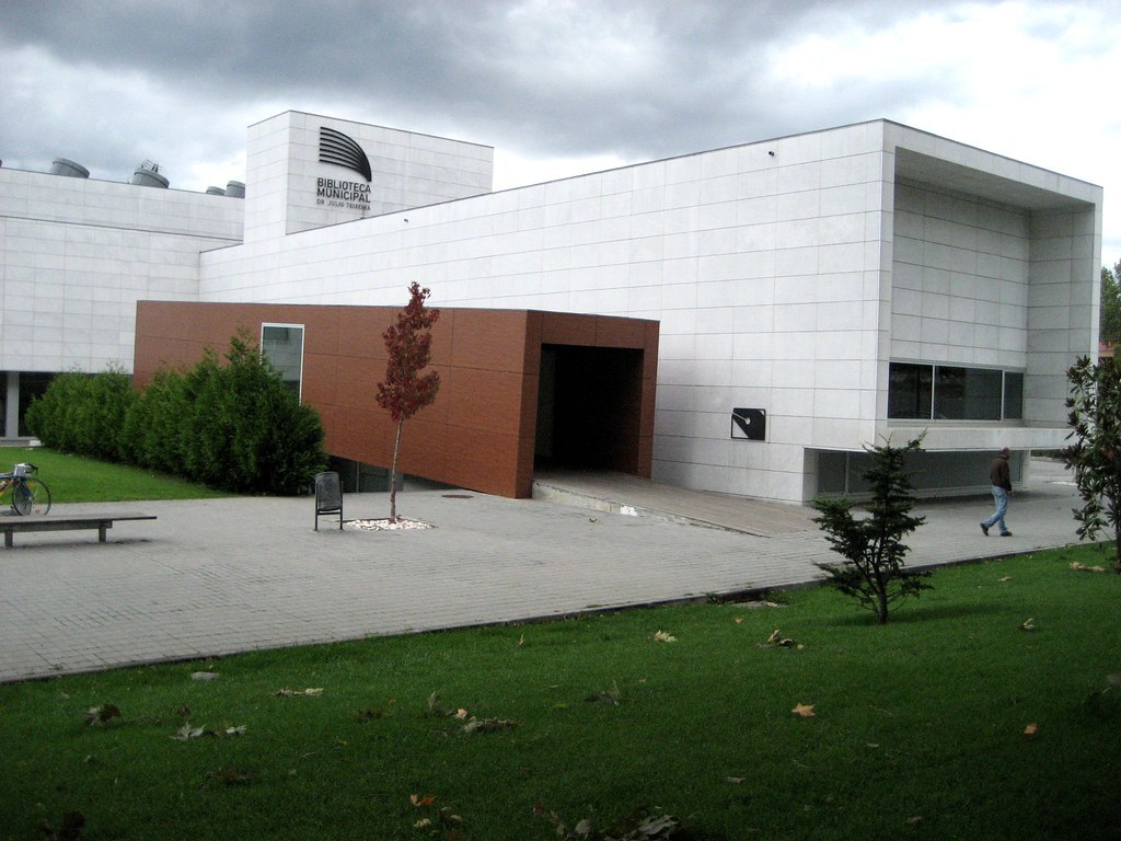
[(393, 464), (389, 471), (389, 519), (397, 523), (397, 459), (401, 452), (401, 427), (417, 412), (436, 399), (439, 373), (421, 375), (432, 359), (432, 325), (439, 318), (439, 309), (425, 306), (432, 292), (415, 280), (409, 286), (409, 303), (397, 314), (382, 338), (389, 351), (386, 379), (378, 383), (378, 405), (389, 412), (397, 425), (393, 441)]

